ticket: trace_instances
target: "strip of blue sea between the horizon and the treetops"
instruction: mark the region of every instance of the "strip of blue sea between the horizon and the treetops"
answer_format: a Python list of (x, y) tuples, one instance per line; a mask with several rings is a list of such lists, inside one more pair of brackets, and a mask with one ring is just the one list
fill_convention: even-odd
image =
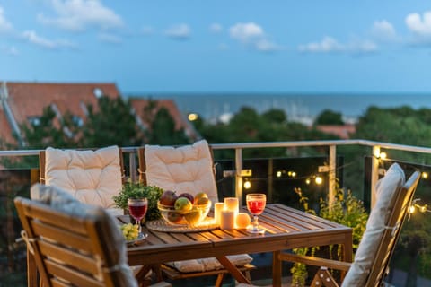
[(344, 120), (356, 122), (371, 107), (431, 109), (431, 91), (426, 93), (174, 93), (154, 92), (145, 98), (172, 99), (185, 115), (197, 113), (205, 119), (232, 117), (242, 107), (250, 107), (262, 113), (268, 109), (283, 109), (291, 121), (304, 124), (312, 122), (324, 109), (341, 113)]

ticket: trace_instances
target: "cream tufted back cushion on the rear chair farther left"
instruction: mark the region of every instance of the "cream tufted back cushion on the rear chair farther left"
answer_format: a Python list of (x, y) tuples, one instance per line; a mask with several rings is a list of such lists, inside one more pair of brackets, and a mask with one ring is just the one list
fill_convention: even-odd
[(85, 204), (114, 206), (112, 196), (121, 190), (119, 147), (96, 151), (59, 150), (45, 152), (45, 182), (61, 187)]

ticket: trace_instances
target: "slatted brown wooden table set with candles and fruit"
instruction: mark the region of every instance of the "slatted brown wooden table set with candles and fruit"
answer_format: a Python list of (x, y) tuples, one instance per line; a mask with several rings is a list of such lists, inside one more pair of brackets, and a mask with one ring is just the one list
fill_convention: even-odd
[[(242, 208), (242, 212), (247, 210)], [(267, 204), (259, 215), (264, 235), (246, 230), (207, 230), (176, 233), (148, 230), (148, 238), (128, 248), (129, 265), (161, 264), (164, 262), (216, 257), (240, 283), (250, 283), (226, 259), (228, 255), (273, 252), (273, 286), (281, 286), (281, 250), (341, 244), (343, 258), (352, 261), (352, 229), (312, 214), (303, 213), (283, 204)]]

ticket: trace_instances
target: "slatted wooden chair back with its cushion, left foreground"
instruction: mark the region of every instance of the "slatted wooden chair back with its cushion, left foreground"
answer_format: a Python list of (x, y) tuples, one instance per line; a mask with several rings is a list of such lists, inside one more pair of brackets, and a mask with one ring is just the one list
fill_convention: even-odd
[(115, 219), (57, 187), (31, 187), (38, 200), (15, 197), (23, 238), (44, 286), (137, 286)]

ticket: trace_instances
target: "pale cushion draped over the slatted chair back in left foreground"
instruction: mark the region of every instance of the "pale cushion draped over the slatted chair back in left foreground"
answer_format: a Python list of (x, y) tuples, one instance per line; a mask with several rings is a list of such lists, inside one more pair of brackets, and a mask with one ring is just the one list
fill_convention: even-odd
[(92, 213), (104, 213), (103, 216), (108, 218), (110, 230), (112, 230), (110, 241), (115, 246), (113, 249), (116, 250), (111, 256), (118, 259), (117, 265), (121, 271), (120, 286), (137, 287), (135, 276), (128, 266), (127, 247), (124, 243), (124, 237), (119, 230), (117, 221), (110, 213), (107, 213), (101, 207), (83, 204), (66, 191), (54, 186), (33, 185), (31, 187), (31, 199), (78, 218), (91, 216)]

